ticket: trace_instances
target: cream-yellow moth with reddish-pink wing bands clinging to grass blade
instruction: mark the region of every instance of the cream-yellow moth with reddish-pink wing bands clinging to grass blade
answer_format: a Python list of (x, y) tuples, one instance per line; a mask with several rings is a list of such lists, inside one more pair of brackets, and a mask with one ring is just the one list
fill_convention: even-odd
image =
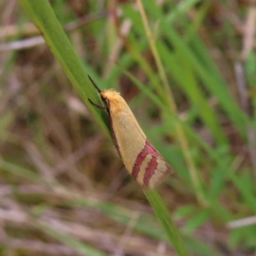
[(113, 89), (102, 91), (89, 78), (104, 106), (88, 100), (93, 106), (106, 109), (116, 150), (128, 172), (143, 189), (156, 188), (173, 172), (172, 167), (152, 146), (120, 93)]

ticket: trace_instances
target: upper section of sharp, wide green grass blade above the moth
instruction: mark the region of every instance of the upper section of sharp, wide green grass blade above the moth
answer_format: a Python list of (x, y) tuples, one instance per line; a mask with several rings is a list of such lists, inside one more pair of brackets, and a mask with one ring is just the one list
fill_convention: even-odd
[(100, 103), (99, 95), (97, 95), (97, 91), (90, 82), (90, 79), (88, 79), (83, 64), (70, 44), (67, 35), (65, 35), (49, 1), (20, 0), (20, 3), (36, 24), (42, 36), (44, 36), (45, 42), (59, 61), (77, 92), (79, 92), (88, 109), (93, 113), (93, 116), (95, 116), (104, 131), (110, 134), (106, 113), (93, 107), (88, 101), (89, 98), (95, 103)]

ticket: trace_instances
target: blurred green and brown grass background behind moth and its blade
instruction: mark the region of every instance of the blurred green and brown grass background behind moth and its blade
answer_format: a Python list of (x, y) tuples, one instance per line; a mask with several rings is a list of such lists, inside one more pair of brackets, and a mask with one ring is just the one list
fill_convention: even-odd
[[(50, 1), (175, 169), (158, 190), (189, 255), (256, 255), (253, 0), (142, 1), (149, 39), (138, 2)], [(106, 120), (20, 3), (0, 13), (0, 255), (176, 255)]]

